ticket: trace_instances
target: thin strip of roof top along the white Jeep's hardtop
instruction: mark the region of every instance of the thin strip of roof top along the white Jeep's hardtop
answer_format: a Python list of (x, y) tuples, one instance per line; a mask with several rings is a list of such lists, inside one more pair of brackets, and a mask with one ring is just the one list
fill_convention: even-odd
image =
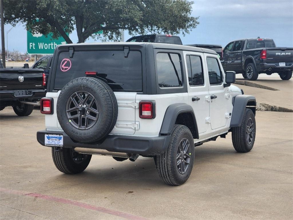
[(69, 47), (74, 47), (75, 50), (78, 49), (91, 49), (97, 48), (99, 46), (103, 46), (103, 48), (109, 47), (117, 47), (117, 46), (140, 46), (145, 47), (147, 44), (151, 44), (154, 49), (170, 49), (170, 50), (185, 50), (185, 51), (194, 51), (194, 52), (202, 52), (202, 53), (210, 53), (217, 54), (214, 50), (209, 50), (206, 48), (197, 48), (185, 45), (177, 45), (177, 44), (166, 44), (166, 43), (145, 43), (145, 42), (103, 42), (103, 43), (72, 43), (72, 44), (64, 44), (58, 45), (56, 50), (64, 50)]

